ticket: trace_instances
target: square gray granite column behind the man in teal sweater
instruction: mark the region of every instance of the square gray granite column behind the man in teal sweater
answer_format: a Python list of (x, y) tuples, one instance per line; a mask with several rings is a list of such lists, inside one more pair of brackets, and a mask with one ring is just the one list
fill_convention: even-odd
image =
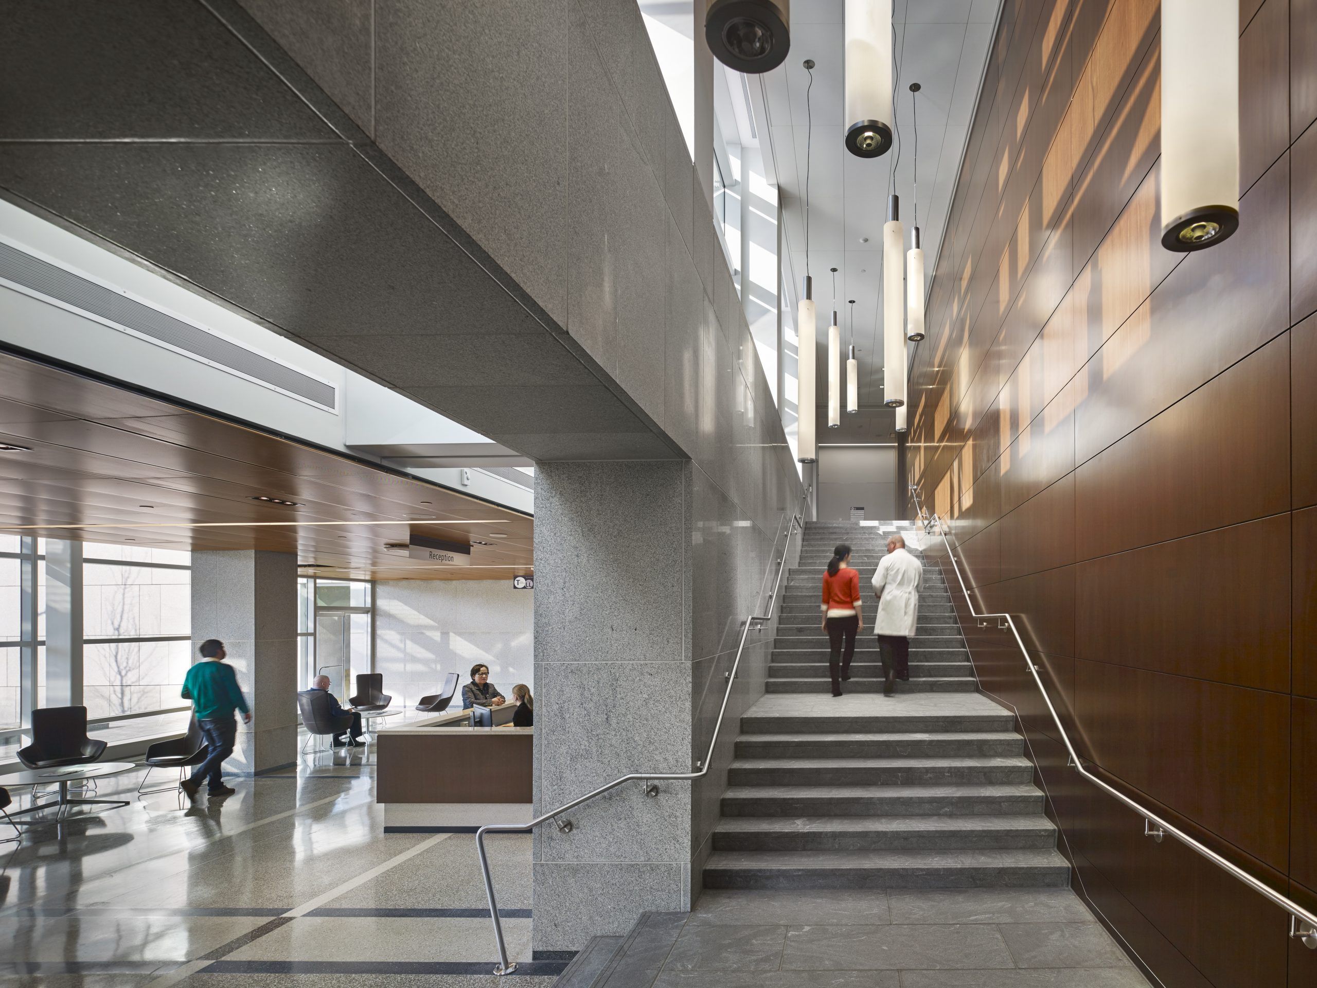
[(291, 552), (192, 553), (192, 659), (224, 642), (252, 707), (225, 771), (257, 773), (298, 757), (298, 557)]

